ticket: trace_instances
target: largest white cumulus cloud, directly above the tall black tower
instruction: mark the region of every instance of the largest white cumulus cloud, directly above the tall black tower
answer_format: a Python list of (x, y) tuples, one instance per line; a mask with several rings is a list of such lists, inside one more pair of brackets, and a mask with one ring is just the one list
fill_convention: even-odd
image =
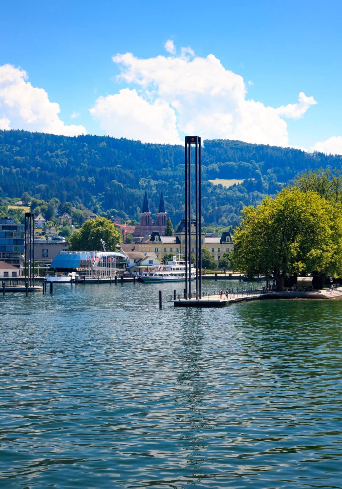
[[(174, 44), (169, 41), (165, 47), (170, 52)], [(282, 116), (300, 117), (316, 104), (303, 92), (298, 103), (279, 108), (248, 99), (240, 75), (213, 54), (196, 56), (190, 47), (181, 48), (178, 56), (141, 59), (126, 53), (113, 61), (121, 70), (118, 80), (134, 87), (100, 97), (90, 111), (115, 137), (173, 143), (195, 133), (203, 139), (288, 146)]]

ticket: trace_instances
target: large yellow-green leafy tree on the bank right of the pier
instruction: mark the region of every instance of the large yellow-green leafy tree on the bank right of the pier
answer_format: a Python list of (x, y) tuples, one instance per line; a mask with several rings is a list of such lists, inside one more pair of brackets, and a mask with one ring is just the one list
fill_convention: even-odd
[(242, 214), (234, 262), (248, 276), (272, 275), (283, 290), (285, 276), (342, 273), (341, 210), (317, 193), (286, 188)]

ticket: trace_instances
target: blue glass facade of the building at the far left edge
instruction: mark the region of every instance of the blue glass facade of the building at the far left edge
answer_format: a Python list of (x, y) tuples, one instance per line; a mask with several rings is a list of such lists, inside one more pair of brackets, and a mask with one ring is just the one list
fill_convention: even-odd
[(0, 219), (0, 262), (21, 268), (24, 254), (24, 225)]

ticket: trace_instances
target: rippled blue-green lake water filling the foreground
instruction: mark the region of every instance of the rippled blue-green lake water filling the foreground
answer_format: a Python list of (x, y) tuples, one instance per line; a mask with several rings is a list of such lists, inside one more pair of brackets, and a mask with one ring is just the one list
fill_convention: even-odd
[(342, 302), (59, 285), (0, 311), (1, 488), (342, 488)]

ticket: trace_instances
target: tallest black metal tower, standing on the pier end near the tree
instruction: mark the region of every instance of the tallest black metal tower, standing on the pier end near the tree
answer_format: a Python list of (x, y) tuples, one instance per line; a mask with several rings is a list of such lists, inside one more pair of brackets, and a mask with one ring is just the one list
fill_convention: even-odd
[[(191, 145), (195, 151), (196, 299), (202, 298), (201, 138), (185, 136), (185, 296), (191, 299)], [(189, 281), (189, 283), (188, 283)]]

